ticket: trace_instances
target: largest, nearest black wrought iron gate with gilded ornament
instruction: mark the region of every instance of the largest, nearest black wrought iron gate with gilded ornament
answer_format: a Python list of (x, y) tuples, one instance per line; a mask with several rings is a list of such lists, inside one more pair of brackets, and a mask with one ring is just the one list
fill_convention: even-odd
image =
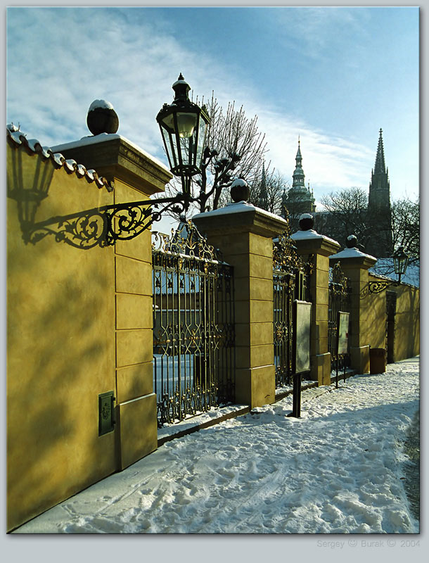
[(191, 222), (153, 233), (158, 426), (234, 400), (233, 268)]

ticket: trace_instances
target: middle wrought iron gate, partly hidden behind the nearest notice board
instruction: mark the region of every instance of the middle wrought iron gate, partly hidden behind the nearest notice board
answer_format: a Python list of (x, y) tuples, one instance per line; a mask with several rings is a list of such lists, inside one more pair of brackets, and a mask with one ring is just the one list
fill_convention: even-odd
[(304, 262), (290, 238), (290, 227), (273, 241), (273, 324), (276, 388), (292, 384), (293, 301), (311, 301), (312, 256)]

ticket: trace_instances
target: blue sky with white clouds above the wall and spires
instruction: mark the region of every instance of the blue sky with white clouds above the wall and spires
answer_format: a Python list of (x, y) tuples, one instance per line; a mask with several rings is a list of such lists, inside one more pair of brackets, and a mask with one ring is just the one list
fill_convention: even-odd
[(182, 72), (194, 98), (258, 116), (291, 183), (368, 189), (380, 127), (392, 200), (419, 185), (417, 7), (10, 7), (6, 120), (44, 146), (89, 134), (95, 99), (167, 164), (155, 117)]

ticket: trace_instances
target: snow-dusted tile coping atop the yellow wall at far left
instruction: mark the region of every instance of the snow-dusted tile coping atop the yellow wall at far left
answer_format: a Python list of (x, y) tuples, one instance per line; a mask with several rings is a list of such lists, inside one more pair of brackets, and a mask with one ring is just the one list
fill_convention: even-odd
[(49, 146), (41, 146), (37, 139), (27, 139), (25, 134), (13, 124), (6, 125), (6, 137), (12, 141), (16, 148), (21, 146), (32, 153), (39, 154), (45, 160), (49, 158), (57, 169), (63, 167), (68, 174), (75, 173), (78, 178), (85, 178), (87, 182), (94, 182), (98, 188), (105, 187), (108, 191), (113, 190), (113, 185), (104, 177), (98, 176), (95, 170), (87, 170), (84, 165), (77, 164), (71, 158), (66, 160), (61, 153), (53, 151)]

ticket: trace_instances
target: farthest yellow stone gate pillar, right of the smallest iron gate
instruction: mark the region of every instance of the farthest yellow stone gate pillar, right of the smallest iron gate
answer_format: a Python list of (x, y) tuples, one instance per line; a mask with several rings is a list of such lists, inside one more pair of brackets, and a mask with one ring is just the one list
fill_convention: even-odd
[(350, 279), (352, 288), (352, 304), (350, 311), (350, 356), (351, 367), (359, 374), (369, 373), (369, 308), (371, 300), (361, 298), (361, 291), (369, 281), (368, 270), (377, 259), (364, 254), (355, 246), (355, 237), (347, 240), (349, 248), (329, 257), (331, 266), (340, 262), (341, 269)]

